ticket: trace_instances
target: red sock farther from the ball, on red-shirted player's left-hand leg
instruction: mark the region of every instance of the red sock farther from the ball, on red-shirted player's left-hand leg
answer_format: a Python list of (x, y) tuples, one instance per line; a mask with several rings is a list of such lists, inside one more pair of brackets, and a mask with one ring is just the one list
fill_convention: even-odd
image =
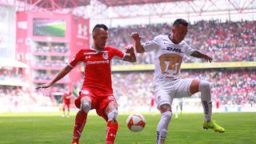
[(79, 138), (82, 134), (83, 127), (86, 124), (86, 118), (87, 114), (84, 111), (79, 110), (78, 114), (75, 117), (72, 143), (78, 144)]

